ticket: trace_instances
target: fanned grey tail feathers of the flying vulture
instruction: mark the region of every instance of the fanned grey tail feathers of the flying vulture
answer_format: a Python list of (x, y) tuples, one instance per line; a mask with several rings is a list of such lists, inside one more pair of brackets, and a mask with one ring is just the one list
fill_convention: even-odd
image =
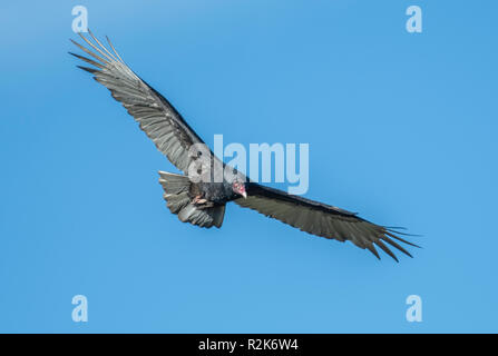
[(164, 199), (169, 211), (178, 215), (183, 222), (201, 227), (221, 227), (225, 216), (225, 206), (214, 206), (201, 209), (192, 202), (188, 176), (175, 175), (159, 170), (159, 182), (164, 189)]

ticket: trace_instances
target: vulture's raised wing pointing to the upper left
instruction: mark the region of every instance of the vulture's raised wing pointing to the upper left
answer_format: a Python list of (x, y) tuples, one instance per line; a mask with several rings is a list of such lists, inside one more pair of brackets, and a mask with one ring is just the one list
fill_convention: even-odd
[[(179, 170), (188, 174), (192, 160), (198, 158), (197, 155), (192, 155), (192, 152), (189, 155), (189, 149), (194, 144), (204, 145), (204, 142), (166, 98), (125, 65), (109, 39), (107, 41), (110, 50), (100, 43), (91, 32), (89, 34), (90, 39), (87, 39), (79, 33), (88, 48), (74, 40), (71, 41), (89, 55), (91, 59), (75, 53), (70, 55), (92, 65), (95, 68), (78, 67), (92, 73), (95, 80), (109, 89), (111, 96), (123, 103), (159, 151), (166, 155)], [(207, 149), (207, 152), (213, 158), (211, 150)]]

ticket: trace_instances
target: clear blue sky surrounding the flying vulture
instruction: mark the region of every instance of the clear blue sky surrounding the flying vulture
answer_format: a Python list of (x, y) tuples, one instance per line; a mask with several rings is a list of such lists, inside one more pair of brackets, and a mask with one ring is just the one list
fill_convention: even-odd
[[(309, 142), (310, 190), (422, 234), (381, 261), (231, 205), (169, 214), (173, 170), (67, 55), (71, 9), (207, 142)], [(410, 4), (423, 32), (408, 33)], [(0, 332), (498, 332), (494, 1), (0, 4)], [(88, 323), (71, 298), (88, 298)], [(408, 323), (406, 298), (423, 300)]]

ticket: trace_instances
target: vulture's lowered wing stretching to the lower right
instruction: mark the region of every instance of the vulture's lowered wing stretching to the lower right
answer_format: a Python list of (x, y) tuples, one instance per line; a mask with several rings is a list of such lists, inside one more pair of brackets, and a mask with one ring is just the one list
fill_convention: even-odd
[(255, 182), (246, 185), (246, 199), (235, 200), (241, 207), (256, 210), (312, 235), (340, 241), (350, 240), (360, 248), (369, 249), (377, 258), (380, 258), (380, 256), (374, 245), (397, 261), (398, 258), (384, 243), (410, 257), (412, 256), (396, 240), (418, 247), (400, 238), (397, 235), (400, 233), (367, 221), (354, 212), (289, 195), (285, 191)]

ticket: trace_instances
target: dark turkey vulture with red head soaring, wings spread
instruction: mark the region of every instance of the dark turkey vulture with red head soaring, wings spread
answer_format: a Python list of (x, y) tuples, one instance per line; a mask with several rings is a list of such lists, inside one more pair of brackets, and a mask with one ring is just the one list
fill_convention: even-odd
[[(106, 47), (91, 32), (89, 38), (81, 33), (79, 36), (88, 47), (71, 41), (90, 58), (71, 52), (70, 55), (94, 68), (78, 67), (94, 75), (95, 80), (107, 87), (158, 150), (185, 174), (159, 171), (159, 182), (165, 191), (167, 207), (183, 222), (219, 228), (225, 215), (225, 205), (234, 201), (241, 207), (256, 210), (309, 234), (339, 241), (350, 240), (362, 249), (367, 248), (379, 259), (375, 245), (398, 261), (384, 243), (412, 257), (398, 243), (418, 247), (399, 236), (408, 234), (372, 224), (354, 212), (258, 185), (242, 172), (225, 166), (209, 149), (199, 148), (204, 146), (203, 140), (166, 98), (125, 65), (109, 39), (109, 46)], [(189, 169), (201, 167), (197, 170), (201, 172), (206, 167), (203, 164), (206, 160), (213, 167), (228, 168), (232, 175), (215, 182), (209, 179), (213, 178), (213, 170), (209, 170), (207, 179), (206, 175), (197, 177), (199, 179), (191, 179)]]

